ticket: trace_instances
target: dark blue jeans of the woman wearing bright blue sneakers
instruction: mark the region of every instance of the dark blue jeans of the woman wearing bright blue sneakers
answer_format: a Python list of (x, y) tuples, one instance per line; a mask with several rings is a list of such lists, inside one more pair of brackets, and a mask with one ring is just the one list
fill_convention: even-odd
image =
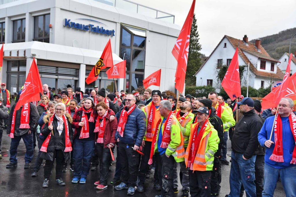
[(86, 178), (89, 174), (91, 157), (94, 152), (94, 140), (75, 139), (73, 149), (74, 177)]

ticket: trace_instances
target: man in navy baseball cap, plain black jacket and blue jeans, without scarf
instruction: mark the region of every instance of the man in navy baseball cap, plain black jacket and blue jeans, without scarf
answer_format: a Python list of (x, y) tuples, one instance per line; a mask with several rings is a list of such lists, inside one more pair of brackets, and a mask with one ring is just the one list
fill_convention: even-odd
[(245, 97), (237, 104), (240, 105), (243, 117), (237, 122), (232, 137), (228, 197), (239, 196), (241, 184), (247, 196), (256, 196), (255, 151), (259, 145), (257, 135), (263, 123), (254, 111), (254, 101), (251, 98)]

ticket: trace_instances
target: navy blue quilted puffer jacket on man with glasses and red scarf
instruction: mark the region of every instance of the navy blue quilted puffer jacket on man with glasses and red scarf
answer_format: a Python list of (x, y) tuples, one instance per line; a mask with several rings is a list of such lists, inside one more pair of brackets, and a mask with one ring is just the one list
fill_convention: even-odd
[[(123, 109), (121, 109), (115, 115), (117, 122), (119, 122), (122, 110)], [(126, 126), (123, 131), (123, 137), (121, 137), (118, 131), (116, 131), (115, 139), (117, 141), (119, 138), (119, 140), (125, 144), (136, 144), (137, 146), (141, 146), (145, 132), (146, 116), (141, 109), (136, 107), (136, 109), (134, 109), (133, 112), (131, 112), (131, 114), (129, 114), (127, 117)]]

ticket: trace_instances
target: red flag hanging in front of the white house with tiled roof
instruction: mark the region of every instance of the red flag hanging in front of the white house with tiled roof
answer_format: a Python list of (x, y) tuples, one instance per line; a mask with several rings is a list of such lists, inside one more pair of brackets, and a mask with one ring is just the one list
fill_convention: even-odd
[(232, 101), (241, 95), (238, 49), (235, 50), (221, 85)]

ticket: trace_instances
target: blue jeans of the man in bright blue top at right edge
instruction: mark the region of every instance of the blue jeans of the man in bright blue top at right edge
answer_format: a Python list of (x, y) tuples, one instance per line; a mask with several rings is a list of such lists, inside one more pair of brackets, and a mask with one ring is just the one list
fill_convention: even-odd
[(268, 164), (264, 165), (264, 188), (262, 196), (274, 196), (276, 182), (281, 177), (286, 196), (296, 197), (296, 166), (276, 169)]

